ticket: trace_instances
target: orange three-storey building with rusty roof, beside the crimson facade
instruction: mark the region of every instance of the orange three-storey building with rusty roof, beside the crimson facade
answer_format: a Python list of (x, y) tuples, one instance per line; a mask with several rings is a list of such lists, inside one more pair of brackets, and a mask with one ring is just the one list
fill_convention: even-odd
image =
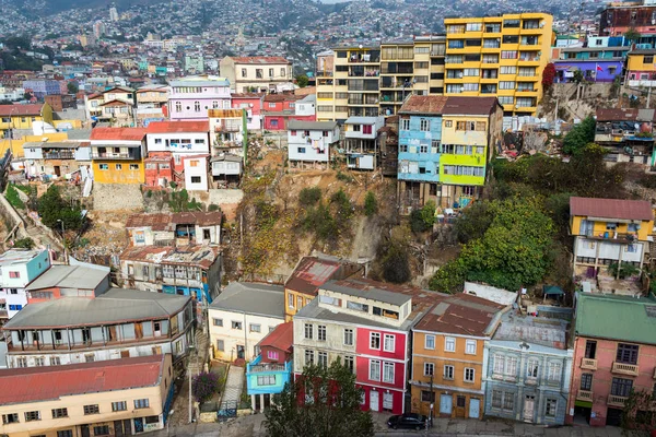
[[(460, 293), (437, 299), (412, 329), (412, 412), (481, 418), (484, 344), (504, 306)], [(433, 411), (431, 411), (433, 405)]]

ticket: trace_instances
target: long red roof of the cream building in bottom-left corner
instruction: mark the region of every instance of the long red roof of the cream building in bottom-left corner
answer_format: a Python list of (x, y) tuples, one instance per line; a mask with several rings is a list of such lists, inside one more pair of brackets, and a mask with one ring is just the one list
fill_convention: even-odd
[(163, 355), (0, 370), (0, 405), (152, 387), (163, 371)]

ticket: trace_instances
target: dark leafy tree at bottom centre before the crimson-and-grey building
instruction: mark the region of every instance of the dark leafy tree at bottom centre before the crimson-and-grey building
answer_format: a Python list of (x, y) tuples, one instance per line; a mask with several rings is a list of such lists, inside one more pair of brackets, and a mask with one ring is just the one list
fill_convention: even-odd
[(270, 437), (373, 437), (368, 411), (360, 409), (363, 390), (355, 374), (338, 358), (328, 368), (306, 366), (291, 378), (282, 392), (273, 394), (265, 411)]

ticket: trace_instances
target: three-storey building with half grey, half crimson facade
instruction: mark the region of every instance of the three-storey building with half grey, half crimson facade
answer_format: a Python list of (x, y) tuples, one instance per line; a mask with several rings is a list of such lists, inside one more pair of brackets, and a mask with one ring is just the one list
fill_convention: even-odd
[(294, 375), (339, 357), (364, 391), (364, 410), (402, 414), (410, 328), (433, 305), (432, 294), (361, 277), (328, 281), (294, 316)]

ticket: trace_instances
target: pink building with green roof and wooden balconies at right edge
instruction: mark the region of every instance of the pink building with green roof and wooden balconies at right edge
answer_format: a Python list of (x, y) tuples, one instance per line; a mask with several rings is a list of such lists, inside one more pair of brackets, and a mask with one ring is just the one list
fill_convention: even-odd
[(655, 389), (656, 299), (578, 293), (566, 423), (620, 424), (631, 390)]

